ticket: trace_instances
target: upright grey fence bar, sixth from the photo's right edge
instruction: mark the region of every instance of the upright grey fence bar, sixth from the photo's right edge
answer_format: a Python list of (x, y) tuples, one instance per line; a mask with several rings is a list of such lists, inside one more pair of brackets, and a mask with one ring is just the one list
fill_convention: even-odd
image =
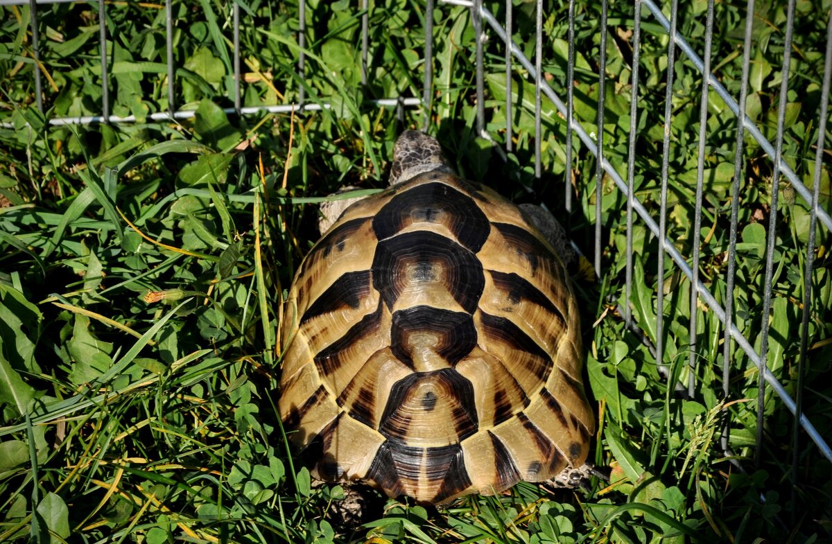
[(635, 2), (635, 14), (632, 31), (632, 88), (630, 91), (630, 146), (627, 150), (626, 166), (626, 281), (624, 299), (624, 322), (631, 324), (632, 310), (630, 295), (632, 292), (632, 205), (633, 177), (636, 174), (636, 126), (638, 118), (638, 63), (641, 60), (641, 0)]

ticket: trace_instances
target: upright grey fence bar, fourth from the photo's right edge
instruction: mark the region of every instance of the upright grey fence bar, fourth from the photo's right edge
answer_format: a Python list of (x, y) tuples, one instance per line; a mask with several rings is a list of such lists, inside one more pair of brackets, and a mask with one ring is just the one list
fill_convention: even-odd
[(714, 0), (708, 0), (708, 14), (705, 22), (705, 67), (702, 69), (702, 95), (699, 110), (699, 156), (696, 164), (696, 204), (694, 205), (693, 217), (693, 279), (691, 279), (691, 351), (688, 354), (688, 380), (687, 396), (693, 398), (694, 377), (696, 375), (696, 301), (699, 299), (699, 291), (696, 284), (699, 283), (699, 240), (702, 228), (702, 185), (705, 179), (705, 141), (708, 123), (708, 89), (711, 85), (711, 43), (714, 38)]

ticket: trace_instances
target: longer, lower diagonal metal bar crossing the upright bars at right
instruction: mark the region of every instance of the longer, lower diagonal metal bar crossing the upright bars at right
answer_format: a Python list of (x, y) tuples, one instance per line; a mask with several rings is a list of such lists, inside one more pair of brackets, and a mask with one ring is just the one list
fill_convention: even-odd
[[(648, 2), (649, 0), (643, 0), (644, 2)], [(507, 47), (512, 48), (512, 52), (515, 58), (518, 59), (518, 62), (524, 67), (529, 75), (533, 78), (535, 77), (534, 67), (532, 66), (532, 62), (530, 62), (527, 57), (522, 53), (519, 47), (514, 45), (512, 40), (508, 39), (506, 36), (506, 32), (503, 29), (503, 25), (494, 18), (493, 14), (488, 11), (485, 7), (483, 7), (483, 19), (485, 19), (488, 24), (492, 27), (493, 31), (497, 34), (497, 36), (503, 40), (503, 43), (506, 44)], [(555, 104), (558, 111), (560, 111), (564, 116), (566, 116), (566, 106), (563, 104), (563, 101), (555, 94), (555, 91), (552, 90), (552, 87), (549, 85), (549, 82), (544, 81), (542, 86), (542, 91), (546, 93), (546, 96)], [(592, 155), (597, 156), (597, 147), (595, 146), (595, 141), (587, 134), (587, 131), (583, 130), (583, 127), (577, 122), (572, 121), (572, 129), (577, 133), (577, 135), (581, 138), (584, 145), (587, 146), (587, 149), (592, 153)], [(616, 169), (610, 164), (607, 159), (602, 159), (602, 166), (607, 174), (612, 178), (612, 181), (615, 181), (618, 189), (622, 191), (625, 196), (628, 196), (627, 185), (624, 180), (622, 180), (622, 176), (618, 174)], [(641, 200), (638, 200), (635, 195), (633, 195), (633, 209), (636, 210), (636, 213), (644, 220), (645, 225), (654, 235), (659, 234), (659, 226), (656, 225), (656, 221), (653, 220), (650, 213), (646, 210), (643, 204), (641, 204)], [(827, 215), (828, 216), (828, 215)], [(676, 246), (671, 243), (670, 240), (661, 240), (662, 247), (667, 252), (668, 255), (671, 256), (671, 259), (676, 262), (679, 269), (684, 273), (688, 279), (691, 279), (691, 283), (693, 281), (693, 270), (691, 270), (690, 265), (687, 264), (685, 258), (679, 253), (679, 250), (676, 250)], [(699, 294), (702, 297), (702, 300), (708, 304), (711, 310), (716, 314), (717, 319), (725, 324), (726, 323), (726, 315), (723, 311), (721, 304), (719, 304), (714, 295), (711, 294), (711, 291), (708, 290), (705, 284), (701, 281), (696, 283), (696, 290), (699, 291)], [(749, 343), (748, 339), (740, 332), (740, 329), (737, 328), (736, 324), (731, 322), (730, 324), (730, 334), (735, 339), (736, 343), (740, 345), (740, 347), (745, 351), (745, 354), (748, 355), (748, 358), (754, 363), (757, 368), (760, 368), (760, 355), (757, 354), (754, 347)], [(772, 389), (775, 390), (775, 393), (780, 397), (780, 399), (785, 404), (785, 407), (789, 409), (790, 413), (795, 413), (795, 401), (790, 397), (789, 393), (786, 392), (785, 388), (780, 384), (780, 382), (775, 378), (771, 373), (765, 373), (765, 381), (769, 383)], [(826, 443), (823, 437), (820, 436), (815, 426), (809, 421), (805, 415), (800, 415), (800, 424), (803, 425), (805, 428), (806, 433), (810, 436), (813, 442), (818, 446), (820, 452), (823, 454), (824, 457), (832, 462), (832, 448), (830, 448), (829, 444)]]

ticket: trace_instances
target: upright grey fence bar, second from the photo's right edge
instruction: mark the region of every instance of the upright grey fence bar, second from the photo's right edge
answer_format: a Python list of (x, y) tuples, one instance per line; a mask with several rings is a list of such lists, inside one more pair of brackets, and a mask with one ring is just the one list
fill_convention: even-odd
[(777, 111), (777, 141), (775, 142), (775, 171), (771, 176), (771, 210), (769, 213), (768, 249), (765, 252), (765, 284), (763, 288), (763, 319), (760, 330), (760, 374), (757, 377), (757, 448), (754, 454), (756, 467), (762, 462), (763, 425), (765, 415), (765, 373), (768, 371), (769, 313), (771, 311), (772, 275), (775, 263), (775, 240), (777, 238), (777, 196), (780, 193), (780, 159), (783, 156), (783, 125), (785, 106), (788, 103), (789, 65), (791, 61), (791, 37), (795, 30), (795, 0), (789, 0), (786, 15), (783, 70), (780, 82), (780, 107)]

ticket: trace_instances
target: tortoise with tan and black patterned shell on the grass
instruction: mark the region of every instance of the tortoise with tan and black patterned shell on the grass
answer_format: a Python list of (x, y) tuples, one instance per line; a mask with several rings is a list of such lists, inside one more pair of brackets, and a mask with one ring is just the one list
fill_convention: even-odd
[(458, 177), (417, 131), (395, 142), (389, 182), (295, 275), (280, 331), (290, 440), (314, 477), (425, 504), (562, 481), (594, 418), (553, 218)]

